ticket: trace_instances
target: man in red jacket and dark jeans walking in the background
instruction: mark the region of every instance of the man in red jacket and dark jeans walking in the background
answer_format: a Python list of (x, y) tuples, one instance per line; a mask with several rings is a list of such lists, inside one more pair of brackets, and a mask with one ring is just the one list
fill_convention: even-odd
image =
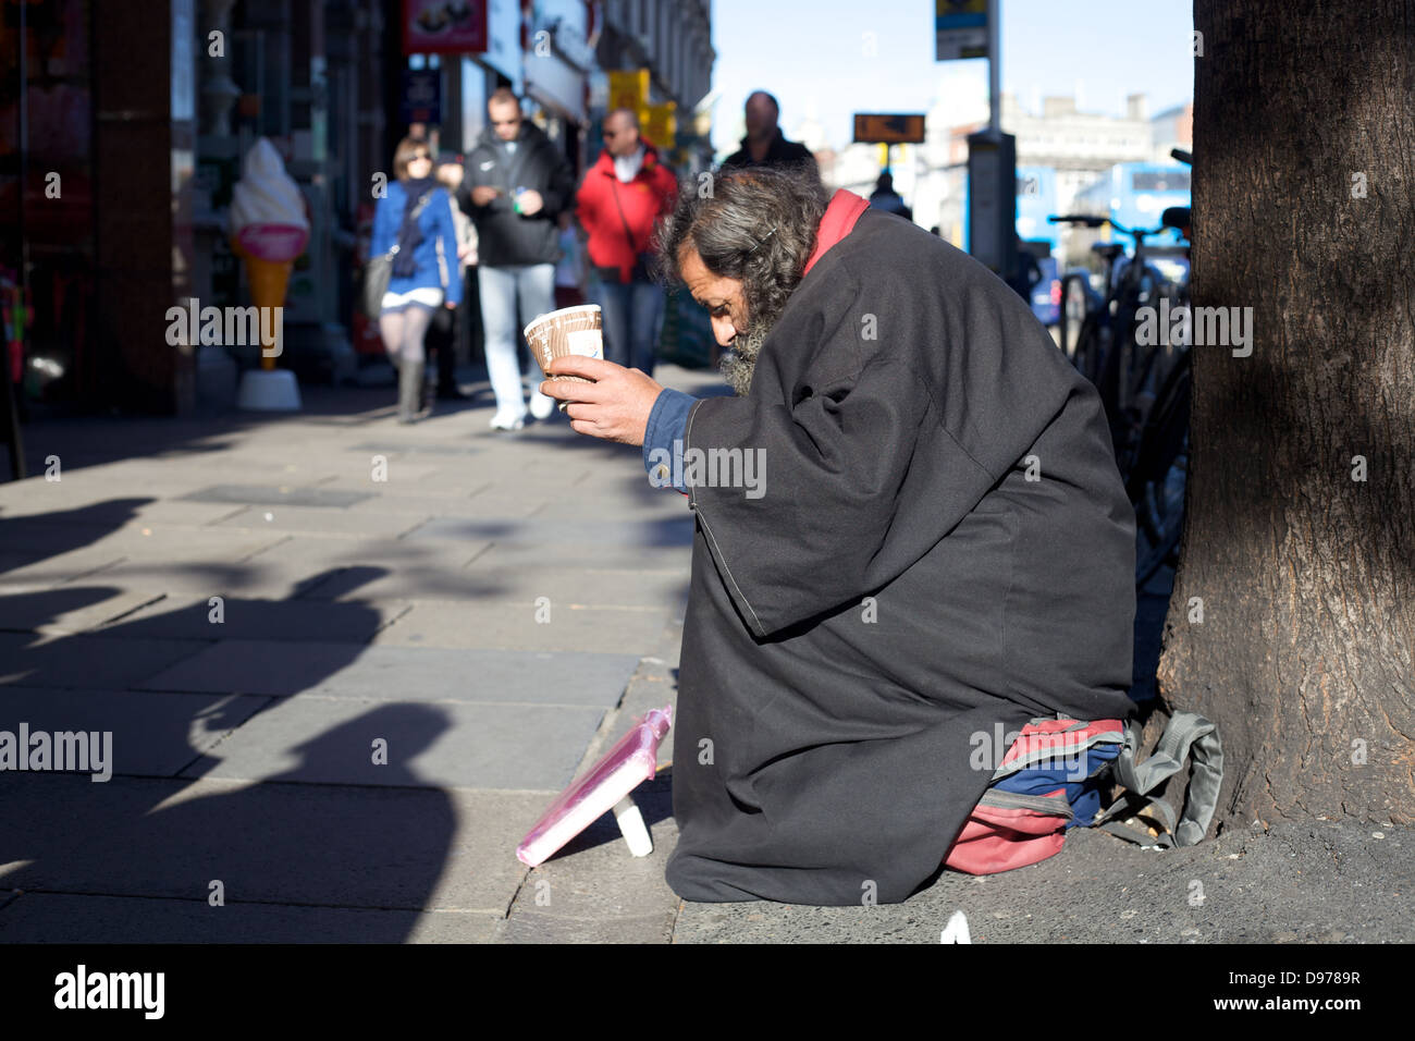
[(604, 320), (604, 357), (652, 375), (664, 290), (648, 275), (657, 221), (672, 211), (678, 180), (638, 135), (638, 116), (604, 118), (604, 152), (584, 174), (577, 215), (589, 234), (590, 299)]

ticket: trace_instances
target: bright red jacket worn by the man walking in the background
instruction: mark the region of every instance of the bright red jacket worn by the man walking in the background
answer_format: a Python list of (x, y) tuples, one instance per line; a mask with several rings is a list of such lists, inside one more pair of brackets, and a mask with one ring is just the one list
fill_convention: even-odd
[[(618, 268), (620, 280), (628, 282), (634, 262), (649, 251), (654, 224), (674, 208), (676, 198), (678, 178), (658, 161), (658, 149), (647, 140), (644, 164), (628, 184), (621, 184), (614, 176), (614, 157), (608, 149), (601, 152), (594, 166), (586, 171), (574, 198), (580, 225), (590, 237), (590, 263)], [(620, 208), (624, 211), (623, 218)]]

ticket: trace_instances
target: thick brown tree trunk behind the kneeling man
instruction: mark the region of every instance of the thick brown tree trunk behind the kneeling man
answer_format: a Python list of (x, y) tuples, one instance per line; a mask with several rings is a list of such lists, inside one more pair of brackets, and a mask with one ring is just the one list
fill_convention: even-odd
[(1193, 302), (1252, 353), (1193, 348), (1159, 691), (1220, 727), (1221, 824), (1412, 823), (1415, 0), (1194, 28)]

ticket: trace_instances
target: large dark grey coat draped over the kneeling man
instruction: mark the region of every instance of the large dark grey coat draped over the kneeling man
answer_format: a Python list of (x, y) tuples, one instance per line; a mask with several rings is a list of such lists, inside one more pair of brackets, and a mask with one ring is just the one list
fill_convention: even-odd
[(1135, 525), (1099, 398), (972, 258), (865, 211), (750, 392), (693, 405), (685, 457), (712, 448), (764, 449), (766, 479), (691, 493), (681, 897), (903, 901), (1006, 752), (995, 724), (1131, 714)]

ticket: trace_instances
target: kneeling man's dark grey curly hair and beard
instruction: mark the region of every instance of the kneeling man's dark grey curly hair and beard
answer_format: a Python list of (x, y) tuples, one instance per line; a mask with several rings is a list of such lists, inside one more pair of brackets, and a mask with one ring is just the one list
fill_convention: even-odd
[(700, 186), (685, 178), (678, 204), (655, 238), (655, 269), (665, 282), (681, 282), (679, 251), (691, 244), (703, 266), (741, 282), (750, 324), (749, 344), (737, 344), (746, 372), (724, 367), (739, 394), (761, 340), (781, 317), (815, 249), (815, 232), (829, 203), (821, 176), (809, 163), (719, 171)]

